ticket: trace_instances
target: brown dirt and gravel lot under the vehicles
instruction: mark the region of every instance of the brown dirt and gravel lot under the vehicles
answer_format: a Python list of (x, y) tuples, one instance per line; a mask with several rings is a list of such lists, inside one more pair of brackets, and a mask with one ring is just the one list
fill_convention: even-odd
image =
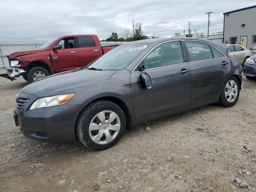
[(12, 110), (27, 84), (0, 78), (1, 192), (256, 191), (256, 80), (244, 77), (232, 108), (208, 105), (142, 124), (101, 152), (24, 138)]

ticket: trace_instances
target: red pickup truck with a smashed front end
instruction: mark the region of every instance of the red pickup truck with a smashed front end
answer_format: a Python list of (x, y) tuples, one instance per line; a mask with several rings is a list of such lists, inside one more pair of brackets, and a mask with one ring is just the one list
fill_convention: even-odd
[(101, 46), (96, 35), (69, 35), (54, 38), (38, 49), (22, 50), (7, 56), (10, 67), (0, 76), (10, 80), (22, 76), (33, 82), (46, 76), (88, 65), (116, 46)]

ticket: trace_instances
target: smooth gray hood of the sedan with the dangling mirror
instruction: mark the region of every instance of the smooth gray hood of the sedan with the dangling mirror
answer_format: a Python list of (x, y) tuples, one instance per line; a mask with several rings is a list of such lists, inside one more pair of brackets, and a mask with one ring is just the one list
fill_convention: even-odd
[(22, 88), (21, 91), (37, 97), (54, 96), (66, 88), (108, 79), (115, 72), (78, 68), (37, 80)]

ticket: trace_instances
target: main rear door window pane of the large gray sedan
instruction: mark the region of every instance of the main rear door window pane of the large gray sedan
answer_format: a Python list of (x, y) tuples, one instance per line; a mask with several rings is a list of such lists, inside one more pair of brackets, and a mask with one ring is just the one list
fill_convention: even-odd
[(190, 61), (200, 61), (213, 58), (212, 51), (208, 44), (199, 41), (185, 41), (185, 43), (188, 48)]

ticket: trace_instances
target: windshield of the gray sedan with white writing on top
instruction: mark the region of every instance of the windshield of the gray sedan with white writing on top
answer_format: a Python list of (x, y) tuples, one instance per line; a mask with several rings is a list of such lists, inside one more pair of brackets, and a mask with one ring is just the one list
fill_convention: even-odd
[(88, 69), (121, 70), (130, 64), (147, 46), (146, 43), (120, 45), (90, 64)]

